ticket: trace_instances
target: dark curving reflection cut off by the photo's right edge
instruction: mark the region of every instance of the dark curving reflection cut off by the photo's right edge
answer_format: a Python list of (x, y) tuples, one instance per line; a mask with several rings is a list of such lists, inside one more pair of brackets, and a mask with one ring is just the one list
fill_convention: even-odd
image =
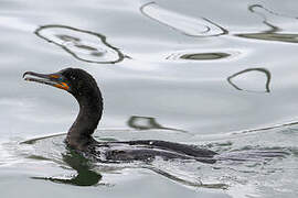
[[(266, 12), (257, 12), (256, 9), (262, 9), (262, 11)], [(278, 42), (287, 42), (287, 43), (297, 43), (298, 42), (298, 34), (292, 33), (279, 33), (281, 31), (278, 25), (274, 25), (269, 22), (268, 16), (270, 15), (277, 15), (277, 16), (284, 16), (281, 14), (278, 14), (276, 12), (270, 11), (267, 8), (264, 8), (262, 4), (253, 4), (248, 7), (248, 10), (254, 13), (258, 14), (263, 18), (263, 23), (269, 28), (269, 30), (260, 32), (260, 33), (247, 33), (247, 34), (236, 34), (236, 36), (240, 37), (246, 37), (246, 38), (255, 38), (255, 40), (265, 40), (265, 41), (278, 41)], [(285, 18), (285, 16), (284, 16)], [(287, 16), (289, 18), (289, 16)], [(292, 18), (296, 19), (296, 18)]]

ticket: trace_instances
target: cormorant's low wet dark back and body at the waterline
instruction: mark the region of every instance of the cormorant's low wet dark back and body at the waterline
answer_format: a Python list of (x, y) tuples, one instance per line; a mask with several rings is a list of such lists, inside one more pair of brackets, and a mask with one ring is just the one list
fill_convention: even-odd
[(93, 156), (100, 162), (151, 162), (156, 157), (162, 160), (194, 160), (213, 164), (215, 152), (196, 147), (194, 145), (180, 144), (158, 140), (140, 140), (126, 142), (95, 142), (87, 146), (87, 156)]

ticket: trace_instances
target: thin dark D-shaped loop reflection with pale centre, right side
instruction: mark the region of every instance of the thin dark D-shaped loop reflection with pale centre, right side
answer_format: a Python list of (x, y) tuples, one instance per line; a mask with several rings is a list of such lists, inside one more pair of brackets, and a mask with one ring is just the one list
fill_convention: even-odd
[(270, 92), (272, 74), (266, 68), (248, 68), (248, 69), (241, 70), (241, 72), (238, 72), (236, 74), (233, 74), (232, 76), (227, 77), (227, 81), (228, 81), (230, 85), (232, 85), (237, 90), (259, 92), (259, 91), (256, 91), (256, 90), (246, 90), (246, 89), (243, 89), (240, 86), (237, 86), (235, 82), (233, 82), (233, 80), (232, 80), (233, 78), (235, 78), (235, 77), (237, 77), (240, 75), (243, 75), (243, 74), (246, 74), (246, 73), (252, 73), (252, 72), (258, 72), (258, 73), (265, 74), (265, 76), (266, 76), (266, 82), (265, 82), (265, 91), (264, 92)]

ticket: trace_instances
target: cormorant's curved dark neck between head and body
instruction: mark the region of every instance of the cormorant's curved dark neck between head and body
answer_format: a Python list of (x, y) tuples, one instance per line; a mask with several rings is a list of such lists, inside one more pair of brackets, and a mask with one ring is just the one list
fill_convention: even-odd
[(93, 140), (94, 133), (103, 113), (103, 98), (98, 94), (75, 97), (79, 105), (79, 112), (71, 129), (66, 142), (68, 145), (84, 150)]

